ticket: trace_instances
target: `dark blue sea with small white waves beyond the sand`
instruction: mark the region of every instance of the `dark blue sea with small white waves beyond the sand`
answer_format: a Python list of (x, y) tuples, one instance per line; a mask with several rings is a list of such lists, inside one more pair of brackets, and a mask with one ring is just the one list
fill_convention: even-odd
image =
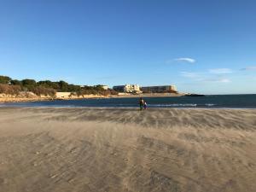
[[(148, 108), (256, 108), (256, 94), (143, 97)], [(0, 107), (137, 108), (139, 98), (104, 98), (2, 103)]]

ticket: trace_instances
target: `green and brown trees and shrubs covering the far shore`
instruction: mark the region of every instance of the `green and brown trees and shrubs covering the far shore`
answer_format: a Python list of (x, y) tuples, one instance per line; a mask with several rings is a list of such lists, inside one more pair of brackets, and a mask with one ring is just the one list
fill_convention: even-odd
[(0, 76), (0, 93), (17, 95), (20, 91), (32, 91), (36, 95), (55, 96), (55, 92), (73, 92), (78, 96), (83, 95), (117, 95), (115, 90), (104, 90), (102, 85), (80, 86), (68, 84), (65, 81), (52, 82), (49, 80), (35, 81), (34, 79), (11, 79), (7, 76)]

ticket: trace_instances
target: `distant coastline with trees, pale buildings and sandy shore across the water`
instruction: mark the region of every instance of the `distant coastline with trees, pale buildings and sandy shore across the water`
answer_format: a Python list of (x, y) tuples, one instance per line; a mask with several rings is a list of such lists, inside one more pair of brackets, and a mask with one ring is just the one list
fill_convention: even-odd
[(132, 98), (132, 97), (201, 96), (179, 93), (175, 85), (140, 87), (138, 84), (93, 86), (68, 84), (65, 81), (11, 79), (0, 75), (0, 102), (38, 102), (75, 100), (90, 98)]

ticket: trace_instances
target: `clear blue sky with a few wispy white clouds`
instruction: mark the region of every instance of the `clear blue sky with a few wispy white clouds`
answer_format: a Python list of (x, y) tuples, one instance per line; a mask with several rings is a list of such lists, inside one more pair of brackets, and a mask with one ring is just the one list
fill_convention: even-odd
[(0, 0), (0, 75), (256, 93), (256, 1)]

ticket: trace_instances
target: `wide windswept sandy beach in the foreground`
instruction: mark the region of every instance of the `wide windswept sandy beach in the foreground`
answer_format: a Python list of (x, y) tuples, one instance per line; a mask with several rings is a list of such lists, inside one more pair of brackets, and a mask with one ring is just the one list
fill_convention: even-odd
[(253, 192), (255, 181), (255, 109), (0, 108), (1, 192)]

